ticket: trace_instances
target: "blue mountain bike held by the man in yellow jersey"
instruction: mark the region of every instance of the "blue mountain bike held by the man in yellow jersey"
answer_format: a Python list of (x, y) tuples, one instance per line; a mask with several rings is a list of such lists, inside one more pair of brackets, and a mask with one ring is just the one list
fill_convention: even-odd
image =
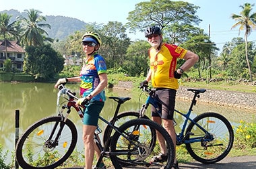
[[(156, 89), (149, 89), (148, 86), (140, 87), (143, 93), (146, 93), (147, 99), (139, 111), (127, 111), (120, 113), (112, 119), (115, 121), (115, 125), (121, 125), (126, 119), (144, 118), (148, 119), (145, 115), (146, 110), (149, 105), (153, 105), (158, 110), (158, 114), (161, 113), (161, 109), (158, 107), (160, 100), (156, 97)], [(225, 158), (234, 142), (234, 131), (232, 125), (224, 117), (218, 113), (207, 112), (197, 115), (194, 119), (191, 119), (191, 113), (193, 111), (193, 106), (197, 103), (197, 98), (200, 97), (200, 93), (205, 93), (206, 89), (187, 89), (194, 93), (191, 105), (187, 113), (182, 113), (177, 109), (174, 109), (174, 115), (181, 115), (184, 120), (183, 123), (177, 125), (177, 122), (174, 119), (175, 128), (178, 126), (181, 129), (180, 133), (177, 133), (177, 146), (185, 144), (187, 152), (191, 155), (192, 158), (201, 162), (203, 164), (213, 164), (219, 162)], [(139, 99), (141, 98), (139, 96)], [(112, 121), (110, 120), (110, 121)], [(107, 126), (105, 131), (108, 131), (109, 127)], [(106, 135), (104, 135), (104, 142), (106, 142)], [(153, 144), (153, 143), (152, 143)]]

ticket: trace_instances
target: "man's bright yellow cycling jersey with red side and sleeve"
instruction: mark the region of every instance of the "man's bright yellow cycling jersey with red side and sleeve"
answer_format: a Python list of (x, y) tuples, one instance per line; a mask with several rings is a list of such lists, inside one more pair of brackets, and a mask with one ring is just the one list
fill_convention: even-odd
[(162, 44), (160, 51), (150, 48), (150, 69), (151, 81), (154, 88), (179, 88), (177, 78), (174, 78), (174, 71), (177, 66), (177, 58), (183, 58), (187, 50), (172, 44)]

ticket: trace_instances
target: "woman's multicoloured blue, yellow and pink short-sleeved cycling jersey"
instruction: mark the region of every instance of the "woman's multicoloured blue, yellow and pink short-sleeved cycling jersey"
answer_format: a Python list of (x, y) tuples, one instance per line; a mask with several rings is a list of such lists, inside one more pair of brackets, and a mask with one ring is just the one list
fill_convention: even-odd
[[(90, 95), (100, 83), (98, 74), (106, 73), (106, 62), (99, 54), (94, 54), (88, 60), (84, 60), (80, 78), (82, 80), (80, 85), (80, 95), (86, 97)], [(101, 91), (98, 95), (94, 96), (92, 100), (105, 101), (105, 91)]]

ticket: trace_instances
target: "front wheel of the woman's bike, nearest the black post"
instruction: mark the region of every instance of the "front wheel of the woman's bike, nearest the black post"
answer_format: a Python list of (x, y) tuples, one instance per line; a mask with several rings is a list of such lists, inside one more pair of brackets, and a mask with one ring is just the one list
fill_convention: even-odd
[[(46, 147), (53, 125), (62, 119), (60, 116), (45, 117), (26, 129), (18, 140), (15, 152), (15, 158), (22, 168), (56, 168), (69, 158), (77, 143), (77, 129), (69, 119), (61, 131), (58, 145), (55, 148)], [(54, 137), (59, 131), (59, 124), (55, 131)]]

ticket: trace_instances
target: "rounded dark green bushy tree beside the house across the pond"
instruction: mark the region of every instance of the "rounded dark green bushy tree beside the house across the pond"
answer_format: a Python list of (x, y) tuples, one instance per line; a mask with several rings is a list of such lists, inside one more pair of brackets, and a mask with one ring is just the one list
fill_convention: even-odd
[(64, 58), (50, 44), (27, 46), (26, 52), (24, 70), (35, 78), (51, 79), (63, 70)]

